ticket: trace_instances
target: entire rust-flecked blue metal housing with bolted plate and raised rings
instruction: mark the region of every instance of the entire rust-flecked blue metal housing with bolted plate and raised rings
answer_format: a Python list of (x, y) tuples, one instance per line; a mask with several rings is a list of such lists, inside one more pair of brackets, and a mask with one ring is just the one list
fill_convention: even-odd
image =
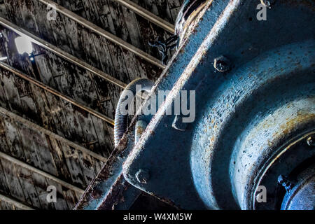
[[(255, 20), (256, 6), (207, 1), (153, 87), (151, 94), (171, 90), (165, 102), (154, 116), (141, 117), (148, 126), (137, 143), (136, 116), (118, 146), (127, 159), (117, 176), (182, 209), (280, 208), (274, 188), (281, 186), (268, 166), (288, 175), (315, 155), (281, 157), (283, 147), (314, 132), (314, 2), (276, 1), (266, 21)], [(214, 66), (222, 55), (229, 69)], [(175, 115), (165, 111), (181, 90), (196, 91), (196, 119), (177, 130)], [(150, 178), (139, 181), (140, 170)], [(101, 172), (90, 188), (110, 184), (107, 178)], [(255, 202), (262, 183), (265, 207)], [(85, 195), (83, 208), (92, 203)]]

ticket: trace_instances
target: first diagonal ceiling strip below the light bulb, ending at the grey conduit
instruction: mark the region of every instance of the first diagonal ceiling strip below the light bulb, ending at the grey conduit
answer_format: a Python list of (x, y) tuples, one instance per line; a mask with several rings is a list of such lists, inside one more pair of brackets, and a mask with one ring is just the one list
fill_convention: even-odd
[(76, 102), (74, 99), (67, 97), (66, 95), (62, 94), (61, 92), (57, 92), (57, 90), (54, 90), (52, 87), (49, 87), (48, 85), (41, 83), (40, 81), (36, 80), (35, 78), (31, 78), (30, 76), (27, 76), (25, 73), (18, 71), (17, 69), (13, 68), (12, 66), (10, 66), (8, 64), (0, 62), (0, 67), (14, 73), (16, 76), (19, 76), (20, 78), (23, 78), (23, 79), (29, 81), (30, 83), (33, 83), (34, 85), (37, 85), (38, 87), (42, 88), (43, 90), (46, 90), (46, 91), (50, 92), (51, 94), (55, 94), (57, 97), (60, 97), (64, 100), (66, 100), (67, 102), (69, 102), (75, 106), (78, 106), (80, 109), (83, 109), (84, 111), (87, 111), (88, 113), (91, 113), (92, 115), (106, 121), (107, 123), (110, 123), (111, 125), (115, 124), (113, 119), (108, 118), (108, 117), (104, 116), (102, 113), (94, 111), (93, 109), (90, 109), (87, 106), (83, 106), (82, 104)]

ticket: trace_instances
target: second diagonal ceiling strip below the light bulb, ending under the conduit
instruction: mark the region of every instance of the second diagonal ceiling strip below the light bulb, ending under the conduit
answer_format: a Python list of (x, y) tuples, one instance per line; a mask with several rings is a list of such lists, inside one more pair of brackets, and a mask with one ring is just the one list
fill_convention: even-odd
[(1, 106), (0, 106), (0, 113), (2, 113), (4, 116), (8, 116), (9, 118), (12, 118), (15, 121), (22, 123), (23, 125), (27, 125), (27, 127), (31, 128), (33, 130), (43, 132), (44, 134), (47, 134), (48, 136), (52, 137), (53, 139), (56, 139), (57, 141), (62, 141), (65, 144), (67, 144), (68, 146), (71, 146), (71, 147), (77, 149), (78, 151), (81, 151), (82, 153), (90, 155), (99, 161), (102, 161), (102, 162), (107, 161), (107, 159), (104, 158), (102, 155), (98, 155), (97, 153), (94, 153), (90, 150), (87, 150), (83, 146), (79, 146), (78, 144), (75, 144), (73, 141), (69, 141), (68, 139), (64, 139), (64, 137), (61, 137), (61, 136), (59, 136), (53, 132), (50, 132), (49, 130), (46, 130), (45, 128), (43, 128), (41, 126), (36, 125), (35, 123), (32, 123), (31, 121), (26, 120), (25, 118), (22, 118), (21, 116), (18, 116), (17, 114), (12, 113), (12, 112), (4, 109)]

